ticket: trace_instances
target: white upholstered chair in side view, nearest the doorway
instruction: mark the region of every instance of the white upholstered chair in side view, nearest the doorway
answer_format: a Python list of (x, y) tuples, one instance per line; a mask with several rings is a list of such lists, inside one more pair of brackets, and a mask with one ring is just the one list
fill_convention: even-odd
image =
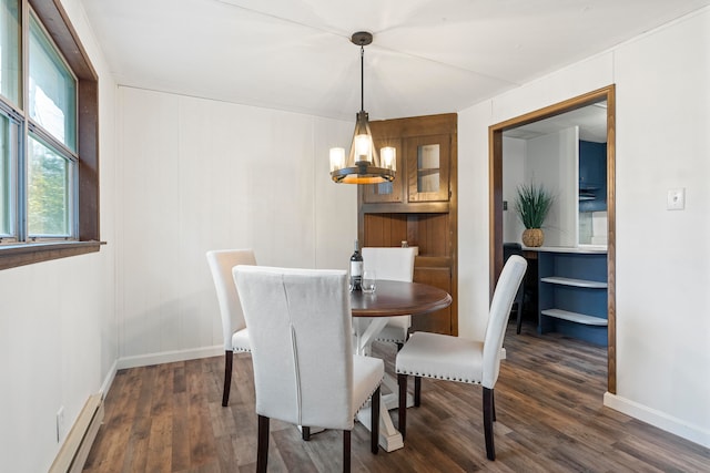
[(500, 350), (513, 300), (520, 286), (527, 261), (510, 256), (503, 268), (490, 302), (484, 341), (468, 340), (439, 333), (415, 332), (409, 337), (396, 359), (399, 383), (399, 432), (405, 438), (407, 410), (407, 376), (415, 377), (414, 404), (419, 405), (422, 377), (483, 385), (484, 434), (486, 455), (496, 459), (493, 421), (496, 420), (494, 387), (500, 370)]

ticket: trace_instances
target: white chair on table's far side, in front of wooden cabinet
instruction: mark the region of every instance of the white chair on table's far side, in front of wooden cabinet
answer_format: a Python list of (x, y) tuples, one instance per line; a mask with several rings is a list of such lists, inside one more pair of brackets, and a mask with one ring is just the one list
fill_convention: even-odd
[[(415, 248), (363, 248), (364, 267), (374, 269), (377, 279), (412, 282), (415, 256)], [(407, 341), (412, 316), (390, 317), (375, 340), (397, 343), (397, 348), (402, 348), (402, 345)]]

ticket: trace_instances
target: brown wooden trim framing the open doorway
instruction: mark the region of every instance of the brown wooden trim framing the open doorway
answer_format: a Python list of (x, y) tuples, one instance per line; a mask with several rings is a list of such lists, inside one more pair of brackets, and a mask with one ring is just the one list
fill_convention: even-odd
[(607, 278), (608, 278), (608, 347), (607, 389), (617, 393), (617, 323), (616, 323), (616, 86), (615, 84), (539, 109), (488, 127), (489, 189), (489, 261), (490, 295), (503, 269), (503, 132), (550, 116), (570, 112), (596, 102), (607, 101)]

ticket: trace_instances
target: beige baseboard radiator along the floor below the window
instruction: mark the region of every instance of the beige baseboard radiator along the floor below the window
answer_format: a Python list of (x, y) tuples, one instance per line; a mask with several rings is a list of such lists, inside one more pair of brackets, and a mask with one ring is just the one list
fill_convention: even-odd
[(91, 444), (103, 422), (102, 394), (89, 398), (59, 450), (49, 473), (74, 473), (83, 470)]

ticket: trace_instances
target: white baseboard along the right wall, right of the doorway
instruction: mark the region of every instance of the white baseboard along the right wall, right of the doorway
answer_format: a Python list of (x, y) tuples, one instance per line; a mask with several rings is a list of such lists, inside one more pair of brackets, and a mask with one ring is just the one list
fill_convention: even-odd
[(604, 394), (604, 405), (670, 432), (699, 445), (710, 448), (710, 431), (617, 394)]

